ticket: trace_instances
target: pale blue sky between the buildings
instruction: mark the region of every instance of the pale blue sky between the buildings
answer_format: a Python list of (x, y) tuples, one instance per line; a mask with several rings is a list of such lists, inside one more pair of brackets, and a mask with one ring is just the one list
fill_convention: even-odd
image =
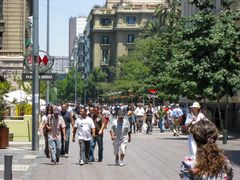
[[(106, 0), (49, 0), (50, 2), (50, 55), (68, 56), (68, 22), (70, 17), (88, 16), (94, 5)], [(39, 45), (46, 50), (47, 0), (39, 0)]]

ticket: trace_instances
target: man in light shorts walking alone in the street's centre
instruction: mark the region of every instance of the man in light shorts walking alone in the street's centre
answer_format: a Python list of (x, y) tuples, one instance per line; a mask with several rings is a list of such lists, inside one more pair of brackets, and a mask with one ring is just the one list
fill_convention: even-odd
[(122, 167), (124, 166), (123, 159), (126, 153), (127, 143), (131, 142), (130, 124), (129, 121), (124, 118), (122, 111), (118, 112), (117, 119), (113, 121), (110, 135), (113, 140), (114, 155), (116, 156), (115, 163)]

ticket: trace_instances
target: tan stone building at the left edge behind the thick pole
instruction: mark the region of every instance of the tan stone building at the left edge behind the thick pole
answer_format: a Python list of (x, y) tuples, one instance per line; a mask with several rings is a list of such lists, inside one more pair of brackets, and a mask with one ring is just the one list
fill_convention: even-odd
[(0, 72), (22, 73), (31, 45), (32, 0), (0, 1)]

